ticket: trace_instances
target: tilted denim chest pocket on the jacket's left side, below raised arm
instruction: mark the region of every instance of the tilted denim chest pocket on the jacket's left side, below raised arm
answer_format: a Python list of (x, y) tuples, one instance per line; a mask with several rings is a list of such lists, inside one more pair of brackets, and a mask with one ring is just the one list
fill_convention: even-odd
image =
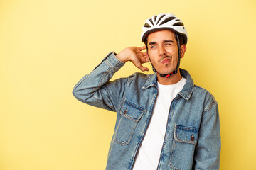
[(137, 123), (140, 118), (142, 118), (144, 112), (144, 108), (132, 102), (124, 101), (124, 105), (120, 111), (121, 118), (114, 132), (114, 142), (117, 142), (119, 145), (129, 144), (132, 140)]

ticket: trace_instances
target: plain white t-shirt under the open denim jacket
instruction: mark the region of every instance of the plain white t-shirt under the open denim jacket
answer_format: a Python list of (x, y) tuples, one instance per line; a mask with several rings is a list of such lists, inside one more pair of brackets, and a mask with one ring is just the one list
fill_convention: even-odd
[(139, 148), (133, 170), (156, 170), (163, 147), (171, 101), (182, 90), (185, 83), (186, 79), (183, 77), (176, 84), (162, 85), (158, 83), (158, 95), (152, 117)]

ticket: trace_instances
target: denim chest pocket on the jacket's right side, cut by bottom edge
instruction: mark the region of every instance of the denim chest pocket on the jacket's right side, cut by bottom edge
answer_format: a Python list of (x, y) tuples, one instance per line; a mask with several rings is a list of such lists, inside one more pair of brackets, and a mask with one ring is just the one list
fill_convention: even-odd
[(198, 141), (198, 128), (176, 125), (171, 149), (171, 169), (192, 169), (193, 154)]

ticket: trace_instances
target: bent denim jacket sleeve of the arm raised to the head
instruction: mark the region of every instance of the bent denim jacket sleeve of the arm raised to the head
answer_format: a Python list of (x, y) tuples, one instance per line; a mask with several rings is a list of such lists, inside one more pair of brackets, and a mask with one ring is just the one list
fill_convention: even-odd
[(110, 79), (123, 65), (114, 52), (110, 52), (90, 74), (86, 74), (75, 84), (73, 95), (91, 106), (117, 111), (124, 96), (126, 79)]

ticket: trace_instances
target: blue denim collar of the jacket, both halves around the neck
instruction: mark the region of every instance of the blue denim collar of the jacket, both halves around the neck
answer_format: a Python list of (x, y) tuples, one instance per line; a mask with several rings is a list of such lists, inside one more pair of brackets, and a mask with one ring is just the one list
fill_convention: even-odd
[[(181, 76), (186, 79), (186, 84), (183, 86), (183, 89), (178, 92), (178, 95), (186, 99), (186, 101), (191, 98), (191, 94), (193, 92), (193, 79), (191, 78), (191, 75), (186, 71), (185, 69), (180, 69)], [(151, 86), (157, 86), (157, 76), (156, 73), (151, 74), (149, 78), (146, 80), (146, 83), (142, 87), (142, 89), (147, 89)]]

